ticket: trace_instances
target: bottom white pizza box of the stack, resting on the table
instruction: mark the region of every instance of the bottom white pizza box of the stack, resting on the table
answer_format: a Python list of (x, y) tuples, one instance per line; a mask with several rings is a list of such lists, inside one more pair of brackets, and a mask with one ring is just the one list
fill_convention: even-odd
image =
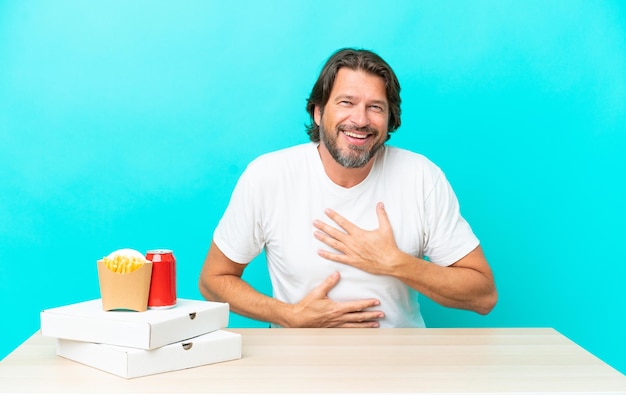
[(134, 378), (239, 359), (241, 335), (218, 330), (152, 351), (58, 339), (57, 355)]

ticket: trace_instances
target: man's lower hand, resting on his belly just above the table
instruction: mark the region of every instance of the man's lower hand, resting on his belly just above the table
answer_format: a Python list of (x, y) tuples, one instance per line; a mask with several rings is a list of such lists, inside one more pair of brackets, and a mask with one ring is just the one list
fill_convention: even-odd
[(294, 328), (378, 328), (378, 320), (385, 314), (380, 310), (366, 310), (380, 305), (377, 299), (335, 302), (328, 292), (339, 282), (334, 272), (300, 302), (292, 305), (288, 326)]

